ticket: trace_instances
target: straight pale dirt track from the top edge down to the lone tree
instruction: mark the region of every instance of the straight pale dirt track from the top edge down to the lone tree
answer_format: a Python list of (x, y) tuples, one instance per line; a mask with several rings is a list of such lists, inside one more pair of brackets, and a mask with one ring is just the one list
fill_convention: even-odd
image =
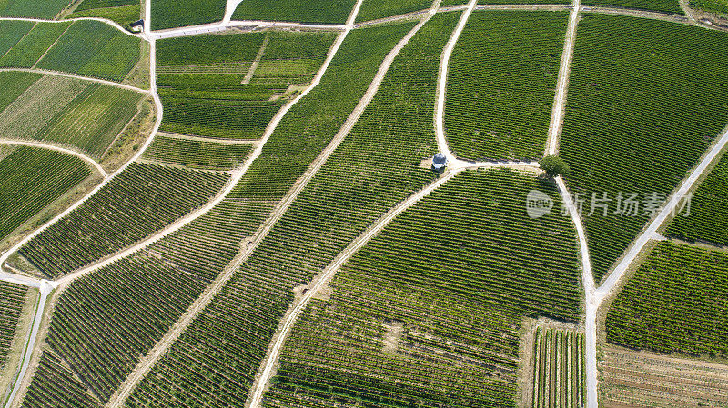
[(561, 52), (561, 65), (559, 66), (559, 77), (556, 80), (556, 93), (553, 96), (553, 106), (551, 107), (551, 123), (549, 124), (549, 134), (546, 139), (545, 155), (557, 154), (559, 149), (559, 137), (561, 136), (561, 129), (563, 127), (563, 118), (566, 114), (566, 97), (569, 91), (571, 61), (574, 56), (576, 29), (577, 25), (579, 25), (580, 9), (581, 0), (573, 0), (571, 13), (569, 14), (569, 23), (566, 27), (563, 50)]

